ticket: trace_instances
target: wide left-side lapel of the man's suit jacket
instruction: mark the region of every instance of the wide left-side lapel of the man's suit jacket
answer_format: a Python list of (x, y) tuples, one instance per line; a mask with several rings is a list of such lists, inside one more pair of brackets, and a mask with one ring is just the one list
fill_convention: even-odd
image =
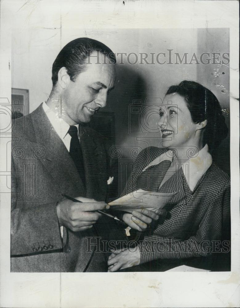
[(73, 160), (45, 114), (42, 104), (31, 113), (36, 143), (46, 151), (41, 162), (58, 184), (62, 193), (85, 197), (85, 189)]

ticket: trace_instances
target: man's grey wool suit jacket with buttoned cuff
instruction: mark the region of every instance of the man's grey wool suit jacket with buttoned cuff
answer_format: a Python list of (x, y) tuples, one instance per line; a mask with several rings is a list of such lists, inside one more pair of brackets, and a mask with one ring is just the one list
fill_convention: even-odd
[[(104, 139), (79, 126), (86, 188), (62, 140), (40, 105), (14, 122), (12, 133), (11, 271), (72, 272), (106, 270), (101, 253), (88, 249), (94, 228), (67, 232), (63, 239), (56, 205), (65, 193), (105, 201), (108, 154)], [(67, 243), (68, 241), (68, 243)], [(92, 239), (93, 243), (94, 239)], [(68, 253), (64, 252), (69, 248)], [(65, 249), (66, 250), (66, 249)], [(69, 250), (71, 250), (69, 252)]]

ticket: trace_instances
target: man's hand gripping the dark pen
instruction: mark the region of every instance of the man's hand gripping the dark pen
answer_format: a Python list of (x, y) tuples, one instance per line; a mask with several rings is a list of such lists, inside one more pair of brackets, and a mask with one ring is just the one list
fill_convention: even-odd
[(100, 213), (93, 211), (106, 209), (107, 204), (83, 197), (77, 197), (76, 199), (81, 203), (71, 200), (63, 200), (58, 203), (59, 225), (65, 226), (74, 232), (92, 228), (101, 216)]

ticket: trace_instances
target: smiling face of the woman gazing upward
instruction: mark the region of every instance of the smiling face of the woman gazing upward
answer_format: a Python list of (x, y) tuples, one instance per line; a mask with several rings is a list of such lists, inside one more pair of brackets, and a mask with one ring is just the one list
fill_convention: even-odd
[(177, 94), (166, 95), (159, 110), (158, 129), (164, 148), (174, 146), (193, 146), (198, 144), (197, 125), (193, 123), (185, 99)]

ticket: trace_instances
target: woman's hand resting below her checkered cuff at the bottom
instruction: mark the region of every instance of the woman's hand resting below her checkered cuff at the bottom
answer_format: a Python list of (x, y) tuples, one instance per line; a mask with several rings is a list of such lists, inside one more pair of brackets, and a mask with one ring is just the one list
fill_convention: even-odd
[(138, 247), (118, 249), (114, 251), (108, 258), (108, 272), (115, 272), (127, 267), (140, 264), (140, 251)]

